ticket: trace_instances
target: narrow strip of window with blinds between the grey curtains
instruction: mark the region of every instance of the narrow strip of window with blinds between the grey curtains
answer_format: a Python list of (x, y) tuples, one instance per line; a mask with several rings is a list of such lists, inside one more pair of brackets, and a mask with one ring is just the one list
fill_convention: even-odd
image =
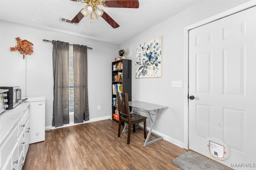
[(68, 103), (69, 115), (74, 115), (74, 51), (73, 46), (69, 47), (68, 65)]

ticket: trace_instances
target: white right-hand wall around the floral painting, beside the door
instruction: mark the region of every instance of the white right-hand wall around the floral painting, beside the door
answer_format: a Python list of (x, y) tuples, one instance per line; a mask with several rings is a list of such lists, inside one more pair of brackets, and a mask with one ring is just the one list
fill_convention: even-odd
[[(154, 130), (164, 139), (187, 148), (184, 141), (184, 88), (172, 88), (173, 80), (184, 81), (184, 27), (214, 16), (246, 1), (204, 0), (119, 45), (132, 60), (132, 100), (168, 106), (158, 117)], [(143, 19), (143, 18), (142, 18)], [(135, 78), (135, 48), (162, 36), (162, 77)], [(148, 119), (147, 125), (150, 125)]]

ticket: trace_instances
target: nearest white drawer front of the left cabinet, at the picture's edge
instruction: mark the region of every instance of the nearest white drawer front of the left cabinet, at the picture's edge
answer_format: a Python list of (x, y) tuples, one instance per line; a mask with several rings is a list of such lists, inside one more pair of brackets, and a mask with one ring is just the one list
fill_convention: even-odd
[(4, 141), (3, 145), (0, 148), (1, 164), (3, 164), (4, 160), (6, 160), (13, 145), (16, 143), (17, 138), (18, 138), (18, 128), (16, 126), (14, 130), (10, 133), (10, 136), (6, 139), (6, 141)]

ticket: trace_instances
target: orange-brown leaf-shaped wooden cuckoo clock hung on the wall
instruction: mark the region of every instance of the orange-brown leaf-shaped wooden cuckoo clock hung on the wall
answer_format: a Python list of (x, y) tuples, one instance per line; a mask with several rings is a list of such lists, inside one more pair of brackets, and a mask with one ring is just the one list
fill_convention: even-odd
[(11, 51), (19, 51), (20, 54), (23, 54), (23, 59), (25, 58), (25, 55), (31, 55), (33, 53), (32, 43), (26, 39), (21, 40), (20, 37), (17, 37), (16, 40), (18, 45), (15, 47), (10, 47)]

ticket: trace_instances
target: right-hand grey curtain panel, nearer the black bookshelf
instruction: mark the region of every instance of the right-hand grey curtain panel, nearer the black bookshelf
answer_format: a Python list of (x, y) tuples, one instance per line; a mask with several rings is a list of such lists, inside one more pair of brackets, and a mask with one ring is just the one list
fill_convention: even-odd
[(73, 45), (74, 51), (74, 123), (89, 120), (87, 46)]

